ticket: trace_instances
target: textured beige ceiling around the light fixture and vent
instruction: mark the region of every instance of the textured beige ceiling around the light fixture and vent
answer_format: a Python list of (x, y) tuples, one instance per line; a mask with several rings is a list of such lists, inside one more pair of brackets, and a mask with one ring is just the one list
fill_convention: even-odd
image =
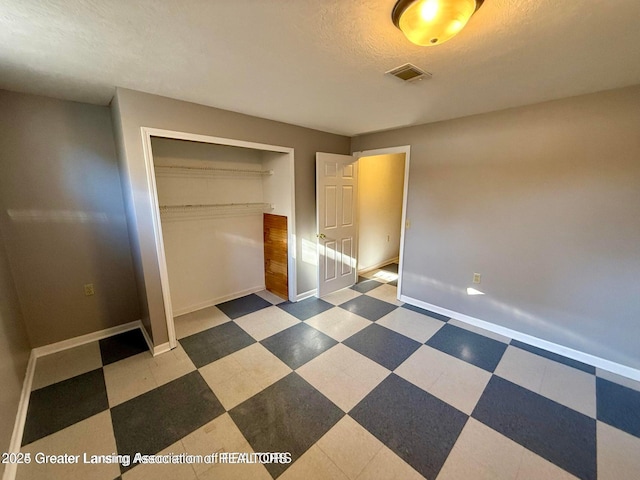
[[(639, 0), (486, 0), (435, 47), (394, 0), (0, 0), (0, 88), (115, 86), (354, 135), (640, 84)], [(404, 84), (411, 62), (433, 74)]]

